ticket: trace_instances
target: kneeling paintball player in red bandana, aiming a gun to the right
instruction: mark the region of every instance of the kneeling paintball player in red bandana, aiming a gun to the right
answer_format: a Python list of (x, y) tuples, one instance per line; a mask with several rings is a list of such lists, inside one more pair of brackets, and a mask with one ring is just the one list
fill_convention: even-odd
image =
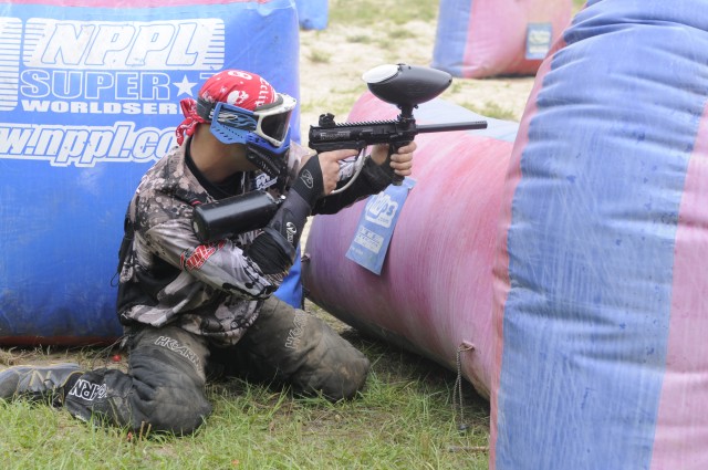
[[(415, 143), (388, 156), (372, 148), (360, 177), (331, 192), (356, 149), (293, 158), (295, 100), (254, 73), (228, 70), (181, 102), (177, 147), (143, 177), (126, 213), (117, 314), (128, 372), (77, 364), (14, 366), (0, 398), (63, 405), (73, 416), (128, 429), (189, 434), (210, 414), (205, 384), (217, 372), (290, 385), (331, 400), (352, 398), (369, 363), (321, 320), (273, 296), (295, 257), (306, 218), (334, 213), (410, 175)], [(267, 189), (284, 196), (262, 229), (204, 243), (201, 203)]]

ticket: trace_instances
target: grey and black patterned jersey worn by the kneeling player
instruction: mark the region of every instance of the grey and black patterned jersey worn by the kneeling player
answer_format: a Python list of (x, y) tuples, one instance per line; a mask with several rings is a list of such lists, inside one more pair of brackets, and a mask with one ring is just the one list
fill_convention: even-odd
[[(176, 324), (212, 344), (232, 345), (287, 271), (266, 275), (246, 255), (260, 230), (200, 243), (191, 228), (192, 208), (220, 197), (215, 187), (207, 190), (208, 181), (190, 163), (189, 143), (158, 160), (131, 200), (121, 249), (118, 318), (125, 326)], [(237, 192), (254, 189), (254, 174), (236, 177)], [(369, 159), (346, 191), (320, 199), (313, 213), (334, 213), (389, 182), (391, 173)]]

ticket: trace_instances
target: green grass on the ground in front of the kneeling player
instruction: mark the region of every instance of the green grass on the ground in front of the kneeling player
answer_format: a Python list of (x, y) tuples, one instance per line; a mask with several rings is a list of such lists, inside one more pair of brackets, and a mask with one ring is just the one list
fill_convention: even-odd
[[(188, 437), (133, 434), (0, 400), (0, 462), (8, 470), (487, 468), (486, 400), (466, 387), (469, 429), (460, 432), (451, 373), (352, 330), (343, 334), (372, 361), (355, 400), (331, 404), (231, 379), (209, 386), (214, 412)], [(96, 354), (108, 353), (81, 351), (82, 361)]]

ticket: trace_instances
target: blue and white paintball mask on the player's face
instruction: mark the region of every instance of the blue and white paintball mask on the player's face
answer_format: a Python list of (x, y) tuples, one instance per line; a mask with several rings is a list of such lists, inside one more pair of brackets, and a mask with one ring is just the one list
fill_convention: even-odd
[(278, 94), (270, 104), (249, 111), (223, 102), (197, 100), (197, 113), (210, 121), (211, 134), (223, 144), (243, 144), (247, 159), (271, 178), (277, 178), (288, 161), (290, 116), (298, 102)]

